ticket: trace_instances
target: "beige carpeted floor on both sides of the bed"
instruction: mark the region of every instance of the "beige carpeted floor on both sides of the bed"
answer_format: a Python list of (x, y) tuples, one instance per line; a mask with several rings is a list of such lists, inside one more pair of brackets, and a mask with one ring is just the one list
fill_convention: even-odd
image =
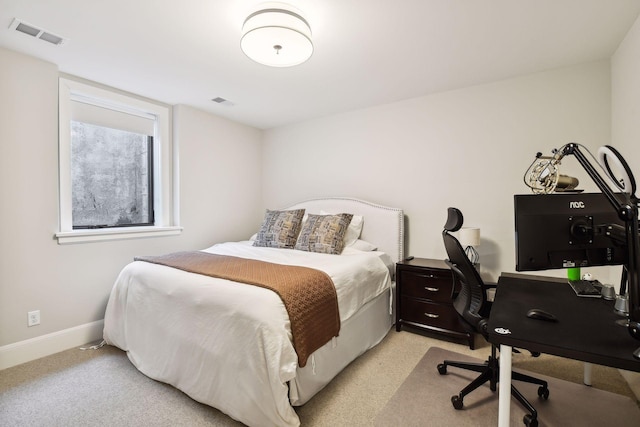
[[(407, 390), (412, 383), (417, 388), (414, 392), (409, 391), (409, 394), (418, 395), (422, 393), (419, 390), (425, 387), (431, 393), (427, 399), (415, 403), (416, 411), (435, 413), (429, 416), (433, 422), (421, 425), (469, 425), (464, 424), (465, 419), (472, 422), (470, 425), (482, 425), (478, 424), (475, 412), (488, 410), (489, 407), (497, 408), (497, 401), (495, 404), (480, 405), (467, 398), (466, 409), (455, 411), (449, 400), (455, 391), (445, 387), (455, 389), (457, 386), (452, 386), (452, 383), (456, 377), (462, 382), (466, 378), (453, 372), (453, 369), (446, 376), (438, 375), (435, 368), (437, 363), (429, 366), (431, 362), (425, 356), (430, 348), (438, 347), (484, 360), (490, 346), (484, 340), (476, 341), (476, 350), (470, 350), (464, 345), (433, 337), (390, 331), (378, 346), (351, 363), (313, 399), (295, 408), (301, 425), (372, 426), (381, 411), (389, 415), (394, 410), (394, 416), (400, 416), (401, 422), (394, 421), (387, 425), (411, 425), (411, 420), (416, 419), (411, 410), (389, 402), (393, 402), (400, 390)], [(429, 351), (427, 356), (433, 354)], [(459, 358), (464, 357), (462, 355)], [(575, 378), (578, 384), (574, 385), (578, 389), (591, 390), (581, 384), (581, 362), (545, 355), (532, 358), (526, 353), (514, 354), (513, 362), (514, 367), (530, 364), (531, 368), (544, 373), (553, 372), (554, 376), (565, 380)], [(533, 370), (529, 367), (527, 370)], [(421, 370), (424, 370), (424, 378)], [(617, 369), (594, 366), (592, 389), (634, 396), (634, 391), (640, 390), (639, 377), (631, 377), (630, 384), (634, 385), (631, 390)], [(551, 388), (548, 402), (555, 404), (563, 393), (573, 393), (559, 390), (563, 389)], [(536, 391), (533, 395), (537, 400)], [(579, 404), (576, 407), (589, 405)], [(516, 404), (512, 408), (515, 412)], [(610, 411), (611, 408), (608, 408), (602, 413), (608, 414)], [(444, 416), (440, 418), (444, 420), (441, 423), (435, 422), (439, 416)], [(379, 426), (384, 425), (380, 424), (381, 419), (378, 419)], [(517, 421), (514, 426), (523, 425), (521, 418)], [(195, 402), (179, 390), (142, 375), (124, 352), (110, 346), (87, 351), (70, 349), (0, 371), (0, 426), (3, 427), (241, 425), (220, 411)], [(489, 422), (488, 425), (495, 423)], [(639, 425), (637, 422), (636, 426)]]

